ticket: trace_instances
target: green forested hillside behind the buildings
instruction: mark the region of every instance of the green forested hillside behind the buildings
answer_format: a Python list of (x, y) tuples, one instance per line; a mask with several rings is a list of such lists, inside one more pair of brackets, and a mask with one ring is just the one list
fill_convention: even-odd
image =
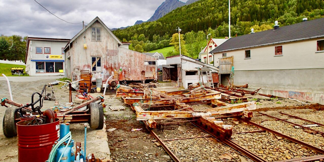
[[(250, 32), (253, 25), (273, 25), (275, 20), (281, 26), (323, 17), (323, 0), (231, 0), (231, 35), (243, 35)], [(164, 17), (135, 25), (113, 33), (121, 40), (137, 40), (140, 34), (153, 41), (154, 35), (171, 37), (176, 27), (181, 33), (216, 29), (216, 37), (228, 35), (228, 0), (200, 0), (179, 7)], [(135, 36), (135, 37), (134, 37)]]

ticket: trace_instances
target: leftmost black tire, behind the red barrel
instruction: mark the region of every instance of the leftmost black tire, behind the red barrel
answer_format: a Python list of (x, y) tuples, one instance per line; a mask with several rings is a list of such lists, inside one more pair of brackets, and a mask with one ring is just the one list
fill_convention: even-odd
[(5, 115), (3, 117), (2, 130), (3, 130), (3, 134), (8, 138), (17, 135), (17, 126), (15, 123), (15, 111), (16, 108), (9, 107), (6, 109)]

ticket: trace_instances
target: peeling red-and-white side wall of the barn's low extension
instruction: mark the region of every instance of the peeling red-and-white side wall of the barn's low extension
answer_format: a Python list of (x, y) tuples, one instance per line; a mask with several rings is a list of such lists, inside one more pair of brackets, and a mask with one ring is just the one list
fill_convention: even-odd
[(156, 79), (156, 65), (144, 65), (144, 61), (156, 61), (157, 58), (122, 47), (118, 49), (119, 80)]

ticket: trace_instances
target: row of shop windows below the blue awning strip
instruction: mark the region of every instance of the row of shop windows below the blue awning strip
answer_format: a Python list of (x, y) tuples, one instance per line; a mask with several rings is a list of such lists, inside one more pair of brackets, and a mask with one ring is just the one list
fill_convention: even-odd
[(36, 73), (63, 73), (63, 62), (36, 62)]

